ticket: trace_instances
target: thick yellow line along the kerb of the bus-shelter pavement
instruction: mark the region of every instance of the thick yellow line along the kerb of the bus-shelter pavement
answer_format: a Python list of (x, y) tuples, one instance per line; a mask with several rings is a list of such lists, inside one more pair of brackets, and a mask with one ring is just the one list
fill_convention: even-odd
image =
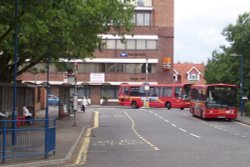
[(77, 155), (75, 165), (84, 164), (87, 161), (87, 154), (89, 149), (89, 143), (91, 138), (91, 132), (93, 129), (99, 127), (99, 112), (94, 113), (94, 125), (91, 128), (88, 128), (83, 139), (82, 145), (80, 147), (80, 151)]

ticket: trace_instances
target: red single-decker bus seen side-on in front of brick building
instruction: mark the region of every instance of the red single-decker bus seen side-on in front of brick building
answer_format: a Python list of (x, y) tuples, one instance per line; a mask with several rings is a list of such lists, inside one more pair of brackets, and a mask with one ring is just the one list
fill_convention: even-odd
[[(148, 90), (145, 90), (148, 86)], [(119, 87), (119, 105), (139, 108), (148, 103), (153, 108), (189, 108), (191, 84), (121, 84)]]

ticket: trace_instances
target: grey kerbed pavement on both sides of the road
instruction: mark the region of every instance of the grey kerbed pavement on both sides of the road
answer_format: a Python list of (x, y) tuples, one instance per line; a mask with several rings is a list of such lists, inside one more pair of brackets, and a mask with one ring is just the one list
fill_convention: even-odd
[[(10, 160), (5, 164), (1, 164), (3, 167), (42, 167), (53, 165), (69, 165), (72, 166), (74, 157), (77, 155), (77, 146), (81, 140), (83, 140), (87, 128), (93, 126), (94, 110), (88, 110), (88, 108), (99, 108), (100, 106), (88, 106), (86, 112), (77, 112), (76, 126), (74, 125), (73, 117), (64, 117), (57, 119), (56, 121), (56, 153), (50, 155), (48, 159), (41, 157), (40, 159), (25, 159), (24, 161)], [(103, 107), (103, 106), (102, 106)], [(110, 107), (110, 106), (108, 106)], [(118, 106), (114, 106), (118, 107)], [(44, 118), (45, 111), (39, 111), (36, 113), (36, 118)], [(49, 109), (50, 118), (58, 118), (58, 111), (56, 108), (51, 107)], [(235, 120), (247, 125), (250, 125), (250, 117), (238, 115)]]

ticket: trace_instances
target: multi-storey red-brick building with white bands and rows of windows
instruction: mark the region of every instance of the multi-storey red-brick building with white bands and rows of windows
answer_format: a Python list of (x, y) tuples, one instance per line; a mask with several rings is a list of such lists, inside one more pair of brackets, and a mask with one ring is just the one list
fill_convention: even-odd
[[(100, 34), (106, 43), (102, 52), (97, 51), (93, 59), (68, 62), (77, 63), (78, 94), (92, 104), (100, 104), (107, 95), (118, 99), (121, 83), (173, 82), (174, 0), (136, 0), (135, 4), (135, 28), (125, 35), (125, 42), (120, 36)], [(70, 80), (65, 71), (50, 69), (51, 85), (60, 87)], [(41, 83), (42, 75), (26, 73), (22, 79)]]

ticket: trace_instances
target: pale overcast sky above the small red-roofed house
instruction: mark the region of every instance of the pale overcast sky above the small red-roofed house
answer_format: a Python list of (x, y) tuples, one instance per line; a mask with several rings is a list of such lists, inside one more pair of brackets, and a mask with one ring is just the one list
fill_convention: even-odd
[(207, 63), (213, 50), (227, 44), (221, 32), (250, 0), (175, 0), (174, 62)]

